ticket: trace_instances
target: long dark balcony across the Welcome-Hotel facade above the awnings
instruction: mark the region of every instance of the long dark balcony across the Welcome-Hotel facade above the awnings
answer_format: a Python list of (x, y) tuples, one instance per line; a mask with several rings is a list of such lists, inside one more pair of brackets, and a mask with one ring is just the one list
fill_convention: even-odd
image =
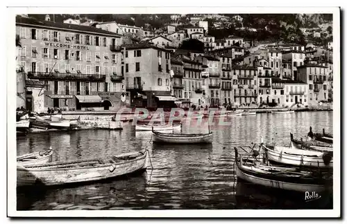
[(99, 81), (105, 82), (106, 75), (99, 74), (81, 74), (81, 73), (41, 73), (41, 72), (28, 72), (29, 79), (39, 80), (80, 80), (80, 81)]

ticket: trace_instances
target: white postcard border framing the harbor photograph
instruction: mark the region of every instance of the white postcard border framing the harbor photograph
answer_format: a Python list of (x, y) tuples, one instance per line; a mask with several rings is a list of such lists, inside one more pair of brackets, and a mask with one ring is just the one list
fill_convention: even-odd
[[(71, 3), (74, 4), (74, 3)], [(173, 4), (171, 4), (173, 5)], [(334, 37), (334, 127), (335, 148), (340, 146), (340, 11), (337, 7), (156, 7), (156, 8), (9, 8), (6, 20), (6, 46), (7, 46), (7, 152), (8, 152), (8, 216), (83, 216), (83, 217), (337, 217), (341, 215), (340, 207), (340, 151), (334, 155), (334, 209), (332, 210), (117, 210), (115, 211), (16, 211), (16, 135), (15, 135), (15, 100), (16, 100), (16, 75), (15, 75), (15, 15), (39, 13), (112, 13), (112, 14), (137, 14), (137, 13), (332, 13)]]

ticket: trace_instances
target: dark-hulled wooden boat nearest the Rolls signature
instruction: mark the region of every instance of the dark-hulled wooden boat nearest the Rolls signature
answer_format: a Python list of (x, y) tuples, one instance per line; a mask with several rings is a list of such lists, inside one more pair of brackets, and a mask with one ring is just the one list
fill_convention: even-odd
[(255, 160), (246, 160), (235, 147), (237, 178), (256, 185), (294, 192), (324, 192), (332, 186), (332, 176), (301, 171), (296, 168), (272, 167)]

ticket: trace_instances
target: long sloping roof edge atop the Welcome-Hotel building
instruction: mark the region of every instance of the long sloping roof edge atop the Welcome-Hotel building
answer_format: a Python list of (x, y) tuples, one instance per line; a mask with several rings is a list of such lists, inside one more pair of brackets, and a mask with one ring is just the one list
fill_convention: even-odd
[(95, 28), (94, 26), (81, 26), (76, 24), (63, 24), (63, 23), (54, 23), (53, 21), (40, 21), (33, 18), (26, 17), (16, 17), (16, 25), (28, 25), (28, 26), (44, 26), (51, 29), (64, 29), (64, 30), (76, 30), (79, 32), (96, 32), (98, 34), (112, 35), (114, 37), (122, 37), (121, 35)]

